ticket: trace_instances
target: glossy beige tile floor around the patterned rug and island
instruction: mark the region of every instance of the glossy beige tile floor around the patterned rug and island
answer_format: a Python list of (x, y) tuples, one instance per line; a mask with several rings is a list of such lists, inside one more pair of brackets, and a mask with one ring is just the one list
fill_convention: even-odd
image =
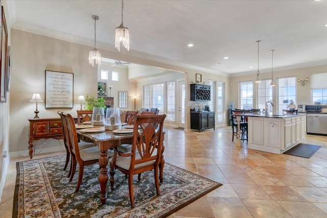
[[(166, 129), (165, 160), (223, 186), (175, 212), (176, 217), (327, 217), (327, 137), (307, 135), (322, 146), (310, 159), (236, 148), (230, 127), (216, 130)], [(41, 158), (64, 152), (37, 155)], [(0, 216), (12, 216), (16, 177), (12, 159)]]

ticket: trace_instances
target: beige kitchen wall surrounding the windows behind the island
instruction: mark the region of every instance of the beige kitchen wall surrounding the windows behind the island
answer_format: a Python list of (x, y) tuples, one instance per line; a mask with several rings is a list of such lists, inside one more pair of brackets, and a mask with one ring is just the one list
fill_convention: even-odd
[[(276, 70), (273, 72), (274, 78), (283, 78), (283, 77), (296, 77), (304, 79), (306, 77), (310, 78), (311, 74), (318, 74), (321, 72), (327, 72), (327, 65), (312, 66), (312, 67), (303, 67), (297, 69), (288, 69), (288, 70)], [(239, 82), (243, 81), (253, 81), (256, 78), (256, 74), (238, 76), (230, 78), (231, 83), (231, 92), (230, 92), (230, 102), (235, 103), (235, 108), (239, 108)], [(270, 79), (271, 72), (261, 73), (261, 79)], [(276, 86), (277, 87), (277, 86)], [(302, 86), (300, 83), (296, 83), (296, 103), (297, 104), (311, 104), (310, 96), (310, 81), (306, 82), (305, 86)], [(273, 88), (273, 92), (277, 93), (276, 88)], [(256, 89), (255, 84), (253, 86), (253, 105), (256, 105)], [(274, 108), (276, 110), (277, 108)], [(276, 112), (276, 111), (275, 111)]]

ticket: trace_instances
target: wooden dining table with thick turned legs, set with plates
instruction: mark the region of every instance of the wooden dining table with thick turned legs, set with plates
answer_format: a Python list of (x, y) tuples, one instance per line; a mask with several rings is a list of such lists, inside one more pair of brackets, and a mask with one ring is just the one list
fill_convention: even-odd
[[(83, 129), (77, 129), (77, 135), (80, 140), (93, 142), (98, 146), (100, 151), (99, 165), (100, 165), (100, 174), (99, 174), (99, 183), (101, 188), (100, 200), (102, 204), (106, 203), (107, 193), (106, 187), (108, 182), (108, 171), (107, 165), (109, 162), (107, 151), (109, 149), (114, 149), (114, 147), (119, 147), (121, 144), (131, 144), (133, 133), (114, 133), (114, 131), (106, 130), (104, 126), (97, 126), (97, 128), (102, 129), (99, 132), (83, 131)], [(123, 131), (122, 131), (123, 132)], [(165, 135), (164, 132), (162, 134)], [(162, 139), (164, 140), (164, 139)], [(164, 180), (163, 171), (165, 165), (164, 159), (165, 146), (162, 145), (162, 155), (159, 163), (159, 180), (162, 182)], [(110, 168), (110, 189), (113, 190), (114, 183), (114, 169)]]

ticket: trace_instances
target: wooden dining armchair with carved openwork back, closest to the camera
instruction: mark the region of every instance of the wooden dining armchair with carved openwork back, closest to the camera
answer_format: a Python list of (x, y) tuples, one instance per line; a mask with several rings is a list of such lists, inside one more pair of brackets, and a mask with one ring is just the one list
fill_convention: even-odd
[(128, 176), (129, 197), (131, 207), (134, 207), (133, 196), (133, 175), (138, 174), (138, 181), (141, 180), (141, 173), (154, 171), (154, 182), (157, 195), (160, 196), (158, 166), (161, 161), (162, 150), (162, 126), (166, 114), (162, 115), (139, 115), (135, 118), (132, 138), (132, 150), (128, 153), (114, 151), (110, 162), (110, 183), (113, 187), (114, 171), (119, 169)]

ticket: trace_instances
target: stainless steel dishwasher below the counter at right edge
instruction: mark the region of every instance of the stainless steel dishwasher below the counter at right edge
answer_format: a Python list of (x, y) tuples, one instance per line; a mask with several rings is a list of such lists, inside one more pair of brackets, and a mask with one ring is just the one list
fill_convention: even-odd
[(308, 113), (307, 133), (327, 134), (327, 114)]

